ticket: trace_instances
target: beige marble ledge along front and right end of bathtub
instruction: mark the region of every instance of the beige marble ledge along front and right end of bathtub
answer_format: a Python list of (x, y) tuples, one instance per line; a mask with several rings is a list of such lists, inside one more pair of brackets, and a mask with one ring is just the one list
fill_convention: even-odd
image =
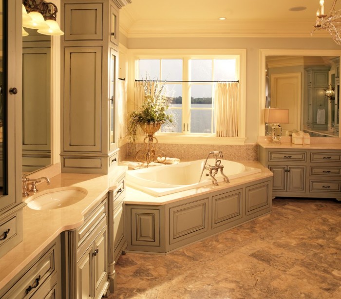
[[(154, 205), (154, 206), (160, 206), (160, 205), (166, 205), (170, 204), (176, 201), (180, 201), (195, 195), (199, 194), (205, 194), (208, 192), (220, 190), (220, 189), (227, 189), (231, 187), (238, 186), (240, 184), (252, 182), (255, 180), (268, 178), (273, 176), (272, 172), (268, 169), (262, 166), (258, 161), (236, 161), (239, 163), (243, 163), (245, 166), (253, 167), (253, 168), (260, 168), (262, 172), (250, 174), (241, 178), (235, 178), (230, 180), (229, 183), (219, 183), (219, 186), (208, 185), (204, 187), (198, 187), (193, 188), (181, 192), (176, 192), (169, 195), (164, 196), (153, 196), (150, 194), (147, 194), (145, 192), (139, 191), (133, 187), (126, 186), (126, 197), (125, 197), (125, 203), (130, 205)], [(133, 171), (133, 170), (130, 170)]]

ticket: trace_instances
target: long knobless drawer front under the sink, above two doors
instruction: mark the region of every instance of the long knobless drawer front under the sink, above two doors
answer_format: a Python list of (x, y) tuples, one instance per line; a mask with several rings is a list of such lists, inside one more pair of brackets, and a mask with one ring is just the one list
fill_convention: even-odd
[(84, 223), (77, 229), (78, 247), (91, 234), (95, 227), (107, 216), (107, 198), (97, 206), (94, 211), (85, 218)]

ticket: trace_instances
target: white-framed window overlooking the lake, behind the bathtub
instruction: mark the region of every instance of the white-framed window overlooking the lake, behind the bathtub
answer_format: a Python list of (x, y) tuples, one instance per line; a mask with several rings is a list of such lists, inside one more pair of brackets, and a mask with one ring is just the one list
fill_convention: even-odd
[(170, 99), (176, 128), (163, 125), (161, 132), (215, 133), (214, 82), (238, 80), (237, 66), (238, 56), (139, 59), (139, 80), (166, 80), (163, 96)]

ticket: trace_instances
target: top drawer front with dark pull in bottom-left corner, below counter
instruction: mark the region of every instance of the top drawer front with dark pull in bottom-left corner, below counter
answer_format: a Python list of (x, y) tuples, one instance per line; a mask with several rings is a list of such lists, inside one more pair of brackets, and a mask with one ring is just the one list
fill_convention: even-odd
[(54, 244), (1, 298), (31, 298), (56, 272), (56, 250)]

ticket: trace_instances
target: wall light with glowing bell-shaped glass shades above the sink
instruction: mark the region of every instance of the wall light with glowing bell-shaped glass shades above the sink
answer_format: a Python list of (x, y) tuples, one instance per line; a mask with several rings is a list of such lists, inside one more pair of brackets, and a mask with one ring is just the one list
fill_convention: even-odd
[[(38, 29), (38, 33), (51, 36), (63, 35), (57, 23), (57, 6), (43, 0), (22, 0), (22, 26)], [(23, 36), (28, 34), (22, 32)]]

